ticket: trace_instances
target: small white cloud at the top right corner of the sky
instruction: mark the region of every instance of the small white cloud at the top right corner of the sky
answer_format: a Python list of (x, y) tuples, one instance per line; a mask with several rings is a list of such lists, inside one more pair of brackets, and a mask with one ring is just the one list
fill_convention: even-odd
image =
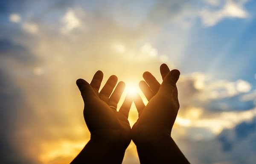
[[(217, 5), (217, 1), (208, 0), (210, 4), (213, 6)], [(211, 8), (203, 9), (200, 12), (200, 17), (202, 23), (207, 26), (212, 26), (217, 24), (219, 21), (223, 20), (224, 18), (247, 18), (248, 13), (243, 8), (243, 5), (246, 1), (232, 1), (226, 0), (226, 3), (220, 9), (213, 10)]]

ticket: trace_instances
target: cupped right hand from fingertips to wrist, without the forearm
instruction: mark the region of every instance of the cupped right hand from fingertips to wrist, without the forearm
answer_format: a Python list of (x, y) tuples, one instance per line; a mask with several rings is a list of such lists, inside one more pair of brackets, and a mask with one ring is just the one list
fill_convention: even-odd
[(176, 82), (180, 72), (170, 71), (165, 64), (160, 66), (160, 72), (161, 85), (149, 72), (143, 74), (145, 81), (139, 84), (148, 104), (145, 106), (139, 95), (134, 99), (139, 112), (139, 119), (132, 127), (132, 139), (136, 145), (153, 144), (171, 135), (179, 109)]

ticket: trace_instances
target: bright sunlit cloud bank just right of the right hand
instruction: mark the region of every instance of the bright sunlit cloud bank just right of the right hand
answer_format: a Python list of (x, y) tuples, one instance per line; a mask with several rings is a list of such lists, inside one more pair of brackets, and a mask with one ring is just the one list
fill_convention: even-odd
[[(196, 72), (181, 75), (177, 87), (180, 110), (176, 124), (179, 130), (185, 127), (187, 130), (209, 130), (211, 135), (200, 134), (202, 139), (214, 137), (224, 128), (233, 128), (236, 124), (256, 116), (253, 104), (239, 100), (242, 94), (251, 89), (250, 83), (244, 80), (213, 80), (210, 75)], [(193, 136), (189, 131), (185, 135)]]

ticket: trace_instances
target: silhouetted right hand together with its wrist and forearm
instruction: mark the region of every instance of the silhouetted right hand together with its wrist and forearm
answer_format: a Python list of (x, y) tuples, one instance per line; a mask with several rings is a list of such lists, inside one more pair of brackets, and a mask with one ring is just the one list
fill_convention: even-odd
[(145, 106), (139, 95), (134, 103), (139, 112), (139, 119), (132, 127), (132, 139), (137, 146), (140, 162), (148, 163), (188, 163), (171, 138), (172, 126), (179, 109), (176, 82), (178, 70), (170, 71), (168, 66), (160, 66), (163, 83), (145, 72), (140, 88), (148, 104)]

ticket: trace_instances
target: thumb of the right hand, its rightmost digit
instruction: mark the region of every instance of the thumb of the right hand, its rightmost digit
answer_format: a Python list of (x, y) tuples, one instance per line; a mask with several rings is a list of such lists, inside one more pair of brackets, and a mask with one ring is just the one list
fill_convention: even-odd
[(176, 82), (180, 77), (179, 70), (172, 70), (170, 71), (165, 78), (163, 79), (163, 83), (160, 87), (160, 90), (166, 90), (169, 93), (172, 93), (176, 89)]

